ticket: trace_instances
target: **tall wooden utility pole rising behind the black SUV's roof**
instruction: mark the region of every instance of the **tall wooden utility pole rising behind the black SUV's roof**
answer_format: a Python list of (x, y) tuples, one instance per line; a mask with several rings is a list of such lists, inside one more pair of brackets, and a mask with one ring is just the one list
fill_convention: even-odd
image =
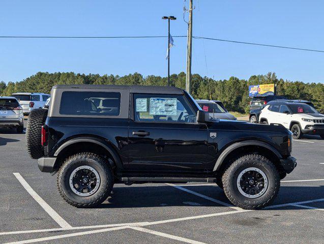
[(192, 1), (189, 0), (189, 22), (187, 35), (187, 75), (186, 75), (186, 91), (191, 93), (191, 53), (192, 53)]

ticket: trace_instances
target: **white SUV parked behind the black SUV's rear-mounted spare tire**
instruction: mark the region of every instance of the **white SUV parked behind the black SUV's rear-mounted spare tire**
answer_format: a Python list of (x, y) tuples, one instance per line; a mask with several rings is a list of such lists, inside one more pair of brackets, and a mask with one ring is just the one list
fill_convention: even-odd
[(23, 114), (29, 114), (35, 108), (42, 108), (46, 100), (50, 97), (49, 94), (44, 93), (14, 93), (11, 95), (15, 97), (22, 107)]

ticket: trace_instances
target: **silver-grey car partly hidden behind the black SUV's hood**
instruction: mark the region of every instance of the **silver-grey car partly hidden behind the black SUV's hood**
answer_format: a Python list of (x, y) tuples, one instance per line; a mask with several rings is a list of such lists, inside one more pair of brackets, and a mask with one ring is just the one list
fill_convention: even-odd
[[(234, 115), (224, 110), (218, 103), (211, 100), (196, 100), (202, 110), (209, 112), (211, 119), (231, 119), (237, 120)], [(223, 105), (224, 106), (224, 105)]]

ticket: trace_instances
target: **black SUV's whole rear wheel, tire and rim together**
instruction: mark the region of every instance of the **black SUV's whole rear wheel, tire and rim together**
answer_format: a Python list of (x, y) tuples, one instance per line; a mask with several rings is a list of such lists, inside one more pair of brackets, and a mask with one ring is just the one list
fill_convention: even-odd
[(75, 207), (93, 207), (105, 201), (113, 187), (109, 162), (92, 153), (68, 158), (57, 175), (57, 188), (63, 199)]

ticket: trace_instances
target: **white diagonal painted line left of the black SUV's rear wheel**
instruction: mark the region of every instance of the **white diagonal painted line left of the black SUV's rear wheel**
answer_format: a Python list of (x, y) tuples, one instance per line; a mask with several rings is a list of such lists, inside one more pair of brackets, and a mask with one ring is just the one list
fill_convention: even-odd
[(47, 214), (62, 228), (72, 228), (71, 225), (69, 225), (68, 222), (66, 222), (60, 215), (57, 214), (57, 212), (51, 208), (50, 205), (48, 205), (34, 190), (33, 188), (28, 185), (27, 181), (19, 174), (19, 173), (13, 173), (16, 178), (19, 180), (20, 184), (23, 186), (23, 188), (35, 199), (35, 201), (38, 202), (39, 205), (47, 212)]

